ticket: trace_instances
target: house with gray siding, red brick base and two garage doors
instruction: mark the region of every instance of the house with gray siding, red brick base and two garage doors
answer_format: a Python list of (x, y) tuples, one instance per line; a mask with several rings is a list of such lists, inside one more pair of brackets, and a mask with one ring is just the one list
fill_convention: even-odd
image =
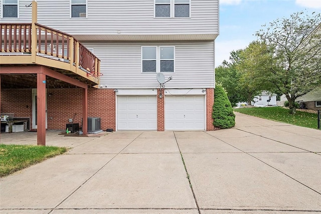
[[(33, 32), (37, 35), (30, 38), (41, 41), (32, 49), (37, 52), (36, 58), (59, 58), (58, 61), (69, 63), (70, 68), (78, 63), (79, 57), (90, 58), (91, 64), (81, 59), (79, 64), (83, 65), (76, 64), (84, 72), (88, 71), (87, 77), (92, 77), (90, 81), (84, 75), (82, 79), (77, 76), (80, 72), (69, 75), (85, 82), (86, 92), (70, 82), (55, 85), (54, 80), (51, 84), (47, 81), (46, 107), (42, 107), (46, 108), (47, 129), (63, 130), (68, 119), (74, 118), (75, 123), (81, 124), (84, 123), (82, 118), (88, 116), (99, 117), (103, 130), (214, 130), (211, 114), (215, 39), (219, 33), (218, 2), (57, 0), (53, 3), (38, 0), (38, 10), (33, 12), (34, 5), (33, 10), (26, 7), (30, 1), (2, 0), (0, 14), (2, 23), (13, 25), (33, 23), (32, 17), (37, 14), (37, 23), (32, 25), (36, 26), (37, 31)], [(10, 29), (16, 28), (11, 26)], [(57, 33), (51, 33), (51, 29)], [(79, 44), (70, 45), (71, 39), (65, 42), (69, 37), (84, 48), (79, 49)], [(13, 38), (15, 36), (2, 35), (2, 47), (7, 45), (5, 40), (10, 43)], [(28, 50), (9, 49), (2, 48), (2, 67), (16, 64), (17, 60), (11, 59), (13, 52), (28, 53)], [(83, 53), (86, 57), (82, 57)], [(77, 60), (71, 59), (71, 55)], [(46, 66), (46, 62), (41, 65)], [(65, 66), (67, 70), (68, 66)], [(95, 66), (99, 67), (99, 73), (98, 67), (91, 69)], [(64, 66), (60, 67), (53, 70), (69, 74), (61, 71)], [(32, 84), (19, 86), (27, 83), (29, 77), (22, 77), (25, 79), (20, 79), (18, 84), (7, 79), (10, 76), (7, 74), (16, 74), (14, 69), (8, 69), (6, 75), (4, 70), (1, 71), (1, 113), (30, 118), (30, 129), (36, 130), (36, 87)], [(170, 81), (160, 84), (157, 73), (164, 74), (165, 80)], [(82, 109), (82, 105), (87, 106), (87, 110)]]

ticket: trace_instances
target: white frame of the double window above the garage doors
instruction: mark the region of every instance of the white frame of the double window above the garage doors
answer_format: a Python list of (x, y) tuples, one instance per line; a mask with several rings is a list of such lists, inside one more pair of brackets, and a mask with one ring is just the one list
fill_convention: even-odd
[[(171, 47), (173, 48), (173, 71), (168, 71), (168, 72), (161, 72), (161, 48), (165, 47)], [(143, 55), (142, 55), (142, 49), (143, 48), (156, 48), (156, 72), (143, 72)], [(140, 72), (141, 73), (175, 73), (175, 52), (176, 52), (176, 47), (174, 45), (157, 45), (157, 46), (141, 46), (140, 47)], [(166, 60), (171, 60), (171, 59), (166, 59)]]

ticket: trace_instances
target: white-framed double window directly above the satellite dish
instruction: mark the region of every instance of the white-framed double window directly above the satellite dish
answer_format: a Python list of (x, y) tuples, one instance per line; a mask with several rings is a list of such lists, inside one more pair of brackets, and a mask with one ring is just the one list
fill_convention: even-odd
[(175, 47), (141, 47), (141, 71), (143, 73), (174, 72)]

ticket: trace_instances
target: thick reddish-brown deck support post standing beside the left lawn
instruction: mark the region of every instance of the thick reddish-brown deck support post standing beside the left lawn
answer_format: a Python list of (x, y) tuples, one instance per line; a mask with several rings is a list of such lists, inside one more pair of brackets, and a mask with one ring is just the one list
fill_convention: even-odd
[(37, 145), (46, 146), (46, 75), (37, 74)]

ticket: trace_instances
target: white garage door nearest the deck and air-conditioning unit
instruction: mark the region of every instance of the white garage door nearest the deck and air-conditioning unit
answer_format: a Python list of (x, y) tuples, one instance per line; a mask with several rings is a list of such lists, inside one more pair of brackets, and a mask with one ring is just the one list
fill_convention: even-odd
[(118, 130), (157, 130), (156, 96), (118, 96)]

